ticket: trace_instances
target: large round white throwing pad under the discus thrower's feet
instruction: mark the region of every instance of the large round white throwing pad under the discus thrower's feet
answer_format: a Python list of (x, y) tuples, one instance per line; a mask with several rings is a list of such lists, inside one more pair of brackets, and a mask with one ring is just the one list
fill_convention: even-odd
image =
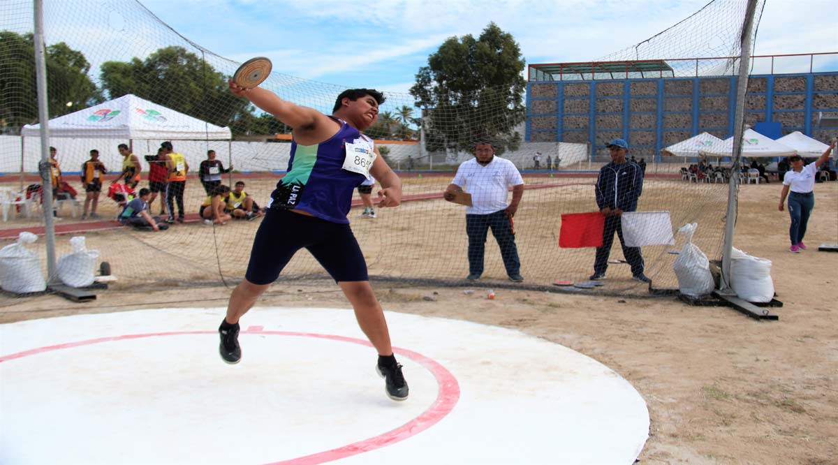
[(642, 397), (518, 331), (386, 313), (411, 394), (389, 400), (351, 310), (221, 308), (0, 325), (2, 463), (632, 463)]

